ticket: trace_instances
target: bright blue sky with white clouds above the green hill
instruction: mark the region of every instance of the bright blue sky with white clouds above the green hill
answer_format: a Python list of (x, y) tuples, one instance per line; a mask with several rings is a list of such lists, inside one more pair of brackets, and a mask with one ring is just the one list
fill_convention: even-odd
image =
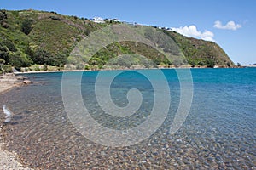
[(256, 0), (1, 0), (0, 8), (37, 9), (169, 27), (217, 42), (234, 63), (256, 63)]

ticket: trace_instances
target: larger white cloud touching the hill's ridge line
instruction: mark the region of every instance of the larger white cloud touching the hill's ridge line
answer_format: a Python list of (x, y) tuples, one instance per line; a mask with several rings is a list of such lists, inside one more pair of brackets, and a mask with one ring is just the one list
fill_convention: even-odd
[(181, 26), (179, 28), (172, 28), (172, 31), (177, 31), (178, 33), (182, 34), (183, 36), (186, 37), (195, 37), (195, 38), (200, 38), (206, 41), (212, 41), (215, 42), (213, 37), (214, 34), (211, 31), (197, 31), (196, 26)]

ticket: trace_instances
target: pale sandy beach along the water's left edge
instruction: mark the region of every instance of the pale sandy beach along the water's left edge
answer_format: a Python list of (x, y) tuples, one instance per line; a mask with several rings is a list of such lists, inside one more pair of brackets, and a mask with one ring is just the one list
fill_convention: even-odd
[[(25, 81), (26, 77), (15, 77), (14, 74), (5, 74), (0, 76), (0, 94), (7, 92), (9, 89), (20, 86), (28, 81)], [(24, 82), (25, 81), (25, 82)], [(28, 170), (30, 168), (23, 167), (20, 164), (17, 156), (13, 152), (8, 150), (3, 150), (2, 143), (2, 127), (0, 125), (0, 170), (2, 169), (19, 169), (19, 170)]]

